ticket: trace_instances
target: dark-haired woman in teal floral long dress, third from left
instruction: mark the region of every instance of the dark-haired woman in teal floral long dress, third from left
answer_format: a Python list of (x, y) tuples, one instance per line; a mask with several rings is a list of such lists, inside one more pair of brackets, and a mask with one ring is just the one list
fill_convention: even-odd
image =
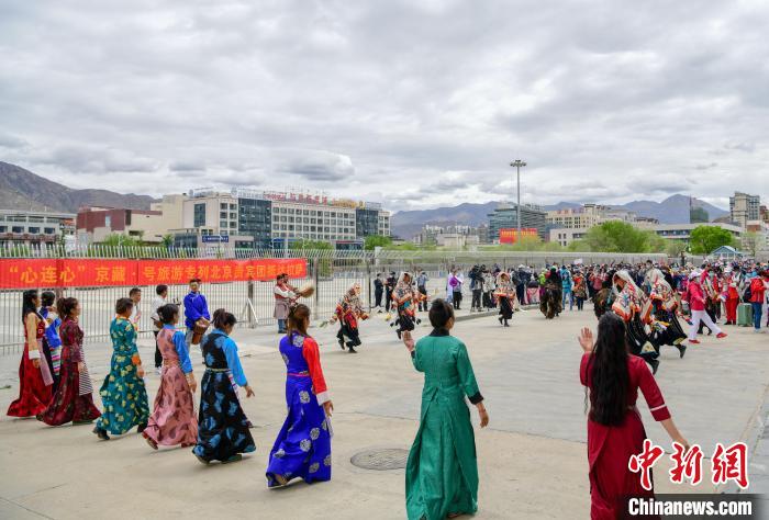
[(115, 304), (115, 319), (110, 325), (112, 363), (99, 394), (104, 411), (93, 430), (99, 439), (110, 440), (109, 433), (120, 436), (134, 426), (142, 433), (147, 427), (149, 404), (144, 386), (144, 368), (136, 349), (136, 329), (129, 317), (133, 302), (120, 298)]

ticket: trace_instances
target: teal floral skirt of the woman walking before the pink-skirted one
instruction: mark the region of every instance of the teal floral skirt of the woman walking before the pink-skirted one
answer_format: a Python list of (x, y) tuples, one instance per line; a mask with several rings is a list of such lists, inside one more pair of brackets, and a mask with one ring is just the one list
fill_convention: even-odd
[(136, 374), (131, 353), (114, 352), (110, 373), (99, 391), (104, 407), (97, 427), (120, 436), (147, 422), (149, 404), (144, 380)]

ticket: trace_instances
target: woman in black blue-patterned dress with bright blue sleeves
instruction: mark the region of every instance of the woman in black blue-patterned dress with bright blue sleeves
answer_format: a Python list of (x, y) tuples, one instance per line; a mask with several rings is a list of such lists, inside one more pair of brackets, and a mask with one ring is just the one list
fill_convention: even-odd
[(230, 338), (235, 323), (235, 316), (218, 309), (213, 313), (214, 330), (201, 343), (205, 374), (200, 384), (198, 443), (192, 453), (203, 464), (236, 462), (243, 459), (242, 453), (256, 450), (233, 385), (242, 386), (246, 397), (254, 396), (237, 358), (237, 344)]

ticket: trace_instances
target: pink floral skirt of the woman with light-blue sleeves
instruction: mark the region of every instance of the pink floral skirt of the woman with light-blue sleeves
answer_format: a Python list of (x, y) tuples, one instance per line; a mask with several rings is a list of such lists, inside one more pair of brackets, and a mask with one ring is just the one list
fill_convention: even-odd
[(155, 409), (144, 434), (160, 445), (192, 445), (198, 440), (193, 395), (179, 365), (163, 369)]

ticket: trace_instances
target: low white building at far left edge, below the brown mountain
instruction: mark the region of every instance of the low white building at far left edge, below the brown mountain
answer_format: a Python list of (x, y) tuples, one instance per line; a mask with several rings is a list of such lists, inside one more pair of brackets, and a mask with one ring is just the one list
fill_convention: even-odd
[(74, 236), (75, 217), (71, 213), (0, 210), (0, 247), (60, 244)]

